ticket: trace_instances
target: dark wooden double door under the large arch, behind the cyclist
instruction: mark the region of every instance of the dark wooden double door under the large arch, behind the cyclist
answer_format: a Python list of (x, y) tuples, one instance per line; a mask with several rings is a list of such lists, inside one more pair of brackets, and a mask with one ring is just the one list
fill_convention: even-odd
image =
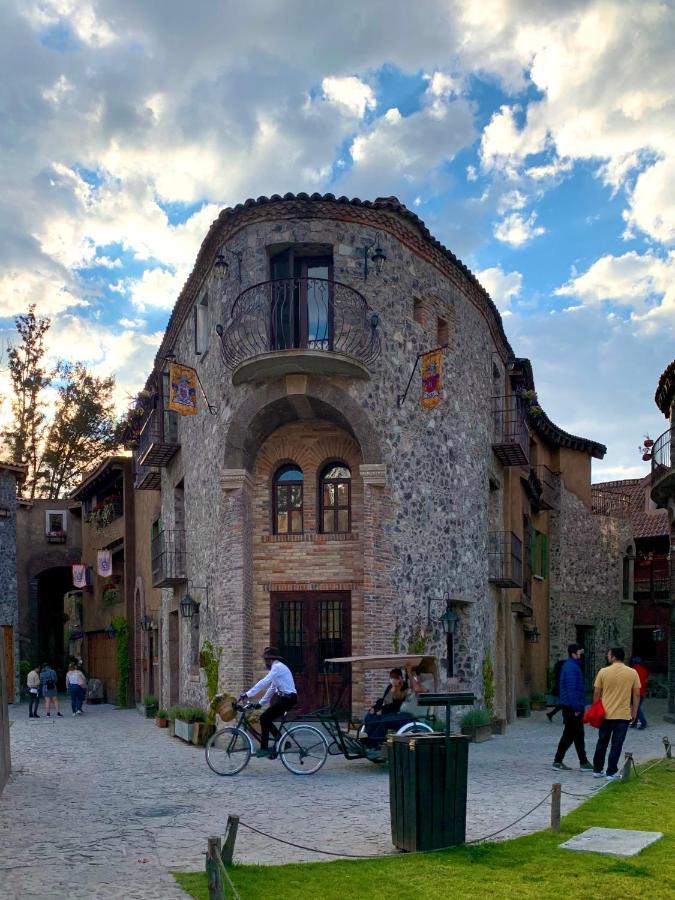
[(271, 643), (290, 667), (298, 712), (322, 706), (351, 708), (347, 667), (325, 663), (351, 653), (351, 594), (348, 591), (274, 593), (270, 597)]

